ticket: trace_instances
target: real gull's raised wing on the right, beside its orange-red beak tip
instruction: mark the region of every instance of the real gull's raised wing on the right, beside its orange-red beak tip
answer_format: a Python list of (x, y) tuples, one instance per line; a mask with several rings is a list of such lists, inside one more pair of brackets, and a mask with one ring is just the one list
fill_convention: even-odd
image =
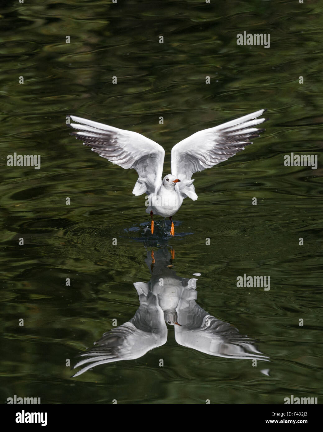
[[(197, 200), (192, 175), (195, 172), (211, 168), (229, 159), (237, 152), (252, 144), (250, 140), (259, 137), (265, 129), (257, 129), (257, 125), (265, 121), (261, 109), (236, 120), (228, 121), (210, 129), (193, 133), (180, 141), (172, 149), (172, 174), (179, 178), (179, 190), (184, 197)], [(186, 196), (185, 196), (186, 195)]]

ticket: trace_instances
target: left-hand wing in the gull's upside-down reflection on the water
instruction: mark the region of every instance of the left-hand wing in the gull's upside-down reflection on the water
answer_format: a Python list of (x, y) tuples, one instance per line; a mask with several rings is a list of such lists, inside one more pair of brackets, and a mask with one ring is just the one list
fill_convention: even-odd
[(83, 359), (73, 369), (83, 366), (73, 377), (104, 363), (142, 357), (147, 351), (166, 343), (167, 327), (163, 311), (147, 283), (135, 282), (140, 306), (134, 318), (105, 333), (96, 347), (80, 354)]

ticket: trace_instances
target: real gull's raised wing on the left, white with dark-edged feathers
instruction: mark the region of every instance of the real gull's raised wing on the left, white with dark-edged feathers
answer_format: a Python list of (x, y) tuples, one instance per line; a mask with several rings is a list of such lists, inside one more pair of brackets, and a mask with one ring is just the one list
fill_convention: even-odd
[(157, 192), (161, 185), (165, 151), (162, 146), (140, 133), (118, 129), (96, 121), (70, 115), (71, 133), (92, 151), (122, 168), (134, 168), (138, 180), (132, 193)]

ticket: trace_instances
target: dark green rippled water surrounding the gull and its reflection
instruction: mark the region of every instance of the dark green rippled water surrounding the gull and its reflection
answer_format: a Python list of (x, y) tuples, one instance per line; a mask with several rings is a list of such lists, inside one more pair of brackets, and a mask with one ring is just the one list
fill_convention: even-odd
[[(14, 394), (42, 403), (284, 403), (291, 394), (322, 403), (322, 13), (309, 0), (2, 8), (2, 403)], [(238, 46), (243, 31), (270, 33), (270, 48)], [(144, 196), (131, 194), (136, 172), (98, 157), (65, 125), (74, 114), (143, 133), (165, 148), (167, 174), (175, 143), (261, 108), (270, 118), (262, 137), (194, 176), (198, 200), (173, 218), (174, 238), (146, 231)], [(41, 168), (8, 167), (13, 152), (41, 155)], [(317, 169), (284, 166), (291, 152), (318, 155)], [(66, 359), (75, 364), (114, 318), (134, 316), (133, 283), (150, 280), (152, 248), (175, 250), (178, 276), (201, 273), (198, 304), (256, 340), (270, 362), (180, 346), (168, 327), (166, 344), (141, 358), (70, 378)], [(270, 276), (270, 290), (237, 288), (244, 273)]]

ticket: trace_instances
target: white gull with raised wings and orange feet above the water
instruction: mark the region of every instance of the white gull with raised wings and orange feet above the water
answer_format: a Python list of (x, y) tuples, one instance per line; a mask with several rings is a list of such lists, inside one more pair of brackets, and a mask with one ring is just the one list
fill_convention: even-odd
[(252, 144), (265, 129), (257, 126), (267, 120), (259, 118), (265, 109), (255, 111), (219, 126), (200, 130), (177, 143), (171, 152), (171, 174), (163, 174), (165, 151), (162, 146), (140, 133), (118, 129), (96, 121), (70, 115), (75, 123), (71, 135), (92, 147), (102, 158), (122, 168), (133, 168), (138, 180), (132, 193), (147, 194), (146, 213), (151, 216), (151, 233), (154, 233), (154, 215), (168, 217), (170, 235), (175, 234), (172, 216), (179, 210), (184, 198), (195, 201), (198, 196), (193, 186), (195, 172), (211, 168), (229, 159)]

